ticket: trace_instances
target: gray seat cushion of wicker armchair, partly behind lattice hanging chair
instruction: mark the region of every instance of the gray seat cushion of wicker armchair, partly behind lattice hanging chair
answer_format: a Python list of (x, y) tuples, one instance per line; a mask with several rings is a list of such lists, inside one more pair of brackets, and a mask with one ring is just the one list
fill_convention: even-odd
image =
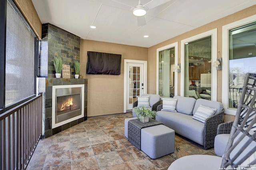
[(214, 152), (218, 156), (222, 156), (225, 152), (230, 134), (218, 134), (214, 138)]

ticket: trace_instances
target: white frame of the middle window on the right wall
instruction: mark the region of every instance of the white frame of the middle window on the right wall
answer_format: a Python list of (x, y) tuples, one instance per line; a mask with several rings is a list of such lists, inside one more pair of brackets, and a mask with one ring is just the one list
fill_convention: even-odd
[[(212, 37), (212, 62), (216, 61), (217, 59), (217, 28), (209, 30), (207, 32), (203, 32), (201, 34), (197, 34), (190, 38), (186, 38), (181, 40), (181, 48), (180, 48), (180, 61), (181, 61), (181, 68), (180, 68), (180, 96), (184, 96), (184, 80), (185, 80), (185, 72), (184, 72), (184, 60), (185, 60), (185, 43), (192, 42), (207, 36)], [(213, 66), (211, 66), (212, 70), (212, 101), (217, 101), (217, 70)]]

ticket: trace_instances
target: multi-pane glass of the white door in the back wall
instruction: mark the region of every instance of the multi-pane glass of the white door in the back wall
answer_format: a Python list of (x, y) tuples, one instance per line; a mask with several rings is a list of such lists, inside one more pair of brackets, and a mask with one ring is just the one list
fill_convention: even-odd
[(129, 68), (129, 104), (137, 101), (140, 96), (140, 67)]

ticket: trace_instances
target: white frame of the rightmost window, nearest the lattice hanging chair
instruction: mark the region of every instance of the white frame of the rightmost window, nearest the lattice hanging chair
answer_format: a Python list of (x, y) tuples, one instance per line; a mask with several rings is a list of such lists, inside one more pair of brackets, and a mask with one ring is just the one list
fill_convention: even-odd
[(256, 22), (256, 15), (222, 26), (222, 104), (226, 114), (236, 115), (235, 108), (228, 108), (229, 30)]

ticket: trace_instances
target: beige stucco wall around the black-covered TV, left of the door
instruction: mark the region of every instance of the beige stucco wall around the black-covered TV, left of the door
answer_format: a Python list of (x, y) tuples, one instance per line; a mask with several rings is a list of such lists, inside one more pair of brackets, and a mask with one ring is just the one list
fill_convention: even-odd
[[(121, 75), (86, 74), (87, 51), (122, 54)], [(80, 74), (88, 79), (88, 117), (124, 112), (124, 59), (148, 60), (148, 48), (81, 40)]]

